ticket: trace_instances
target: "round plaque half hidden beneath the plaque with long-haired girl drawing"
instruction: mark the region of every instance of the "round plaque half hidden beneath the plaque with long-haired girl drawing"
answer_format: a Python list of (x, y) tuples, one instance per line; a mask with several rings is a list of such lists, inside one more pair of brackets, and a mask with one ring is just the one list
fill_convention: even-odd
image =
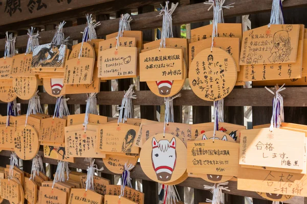
[(121, 174), (124, 171), (125, 163), (136, 165), (138, 162), (138, 157), (126, 157), (126, 156), (118, 156), (118, 155), (106, 155), (105, 158), (102, 159), (105, 167), (112, 171), (113, 173)]

